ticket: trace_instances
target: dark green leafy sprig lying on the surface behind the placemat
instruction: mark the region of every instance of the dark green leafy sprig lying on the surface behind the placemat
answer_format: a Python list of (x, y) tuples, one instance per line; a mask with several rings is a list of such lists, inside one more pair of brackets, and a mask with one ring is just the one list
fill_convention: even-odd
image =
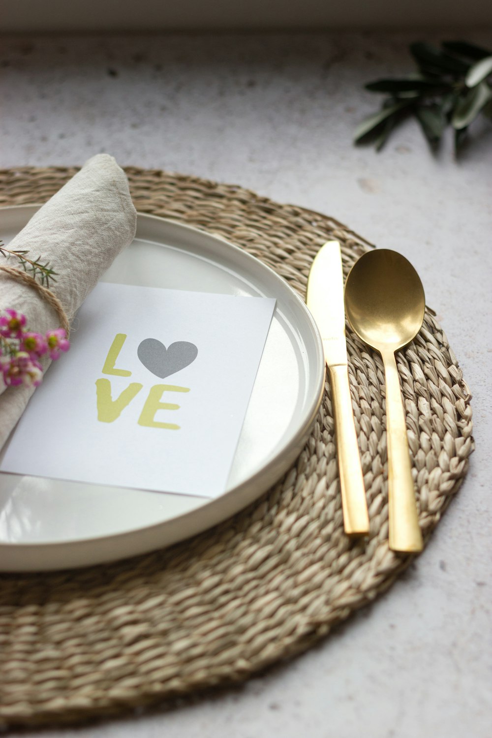
[(468, 41), (443, 41), (440, 49), (417, 41), (410, 53), (417, 72), (366, 85), (369, 92), (388, 97), (381, 110), (358, 125), (354, 141), (373, 142), (379, 151), (395, 125), (413, 115), (434, 150), (451, 125), (459, 151), (479, 114), (492, 120), (492, 51)]

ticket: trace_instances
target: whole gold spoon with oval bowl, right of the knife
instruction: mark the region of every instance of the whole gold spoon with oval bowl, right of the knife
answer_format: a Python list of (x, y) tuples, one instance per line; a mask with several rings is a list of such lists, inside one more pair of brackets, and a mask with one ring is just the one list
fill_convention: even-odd
[(389, 548), (422, 551), (395, 351), (415, 338), (426, 308), (412, 264), (389, 249), (356, 261), (345, 284), (345, 310), (359, 338), (379, 351), (386, 382)]

